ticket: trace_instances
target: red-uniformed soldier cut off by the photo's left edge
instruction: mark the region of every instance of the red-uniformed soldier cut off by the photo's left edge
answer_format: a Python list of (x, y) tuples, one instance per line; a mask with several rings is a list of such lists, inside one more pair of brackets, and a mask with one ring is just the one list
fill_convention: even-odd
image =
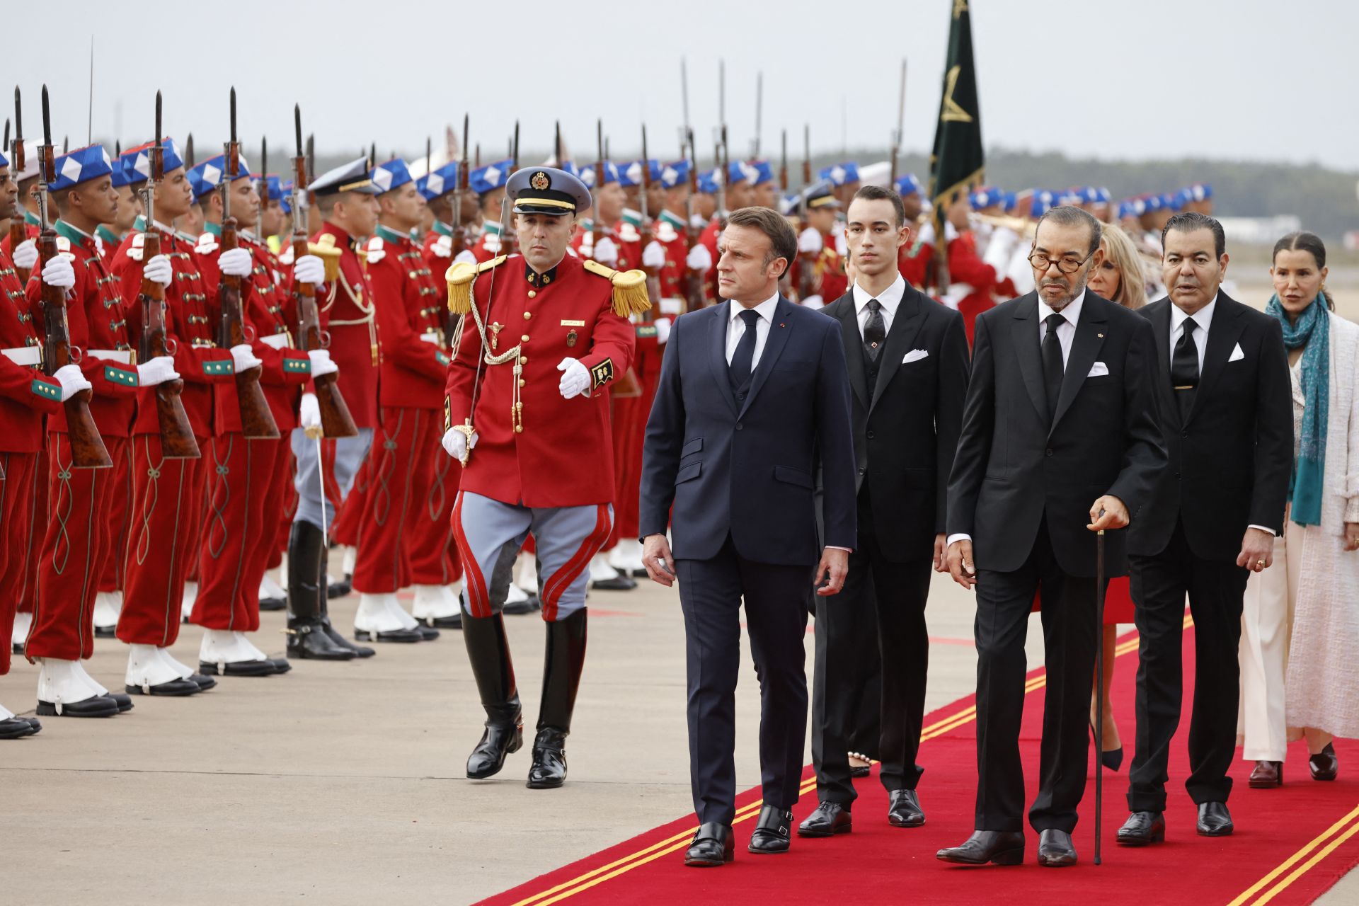
[[(0, 155), (0, 220), (19, 216), (18, 192), (10, 175), (10, 160)], [(68, 365), (48, 378), (38, 367), (41, 363), (42, 348), (29, 316), (23, 284), (8, 253), (0, 251), (0, 642), (4, 642), (0, 644), (0, 676), (10, 672), (7, 642), (14, 630), (15, 590), (26, 565), (34, 486), (39, 481), (42, 417), (54, 416), (65, 398), (90, 387), (79, 367)], [(113, 700), (99, 698), (90, 710), (118, 713)], [(30, 736), (38, 729), (37, 720), (15, 717), (0, 705), (0, 739)]]

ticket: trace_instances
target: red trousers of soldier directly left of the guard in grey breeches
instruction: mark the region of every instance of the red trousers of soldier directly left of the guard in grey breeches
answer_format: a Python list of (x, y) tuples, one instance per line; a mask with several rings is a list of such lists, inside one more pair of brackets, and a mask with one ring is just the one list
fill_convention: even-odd
[(260, 629), (260, 580), (279, 523), (270, 504), (287, 470), (288, 439), (212, 439), (207, 520), (198, 545), (198, 596), (189, 622), (207, 629)]

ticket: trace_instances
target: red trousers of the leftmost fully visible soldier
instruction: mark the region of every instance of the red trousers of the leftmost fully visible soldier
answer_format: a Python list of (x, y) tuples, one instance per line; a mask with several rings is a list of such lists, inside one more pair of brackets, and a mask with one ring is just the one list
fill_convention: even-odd
[[(125, 460), (129, 440), (105, 437), (114, 460)], [(114, 469), (76, 469), (71, 437), (48, 433), (48, 524), (38, 562), (38, 600), (24, 655), (80, 660), (94, 655), (94, 596), (113, 542), (109, 509), (116, 501)]]

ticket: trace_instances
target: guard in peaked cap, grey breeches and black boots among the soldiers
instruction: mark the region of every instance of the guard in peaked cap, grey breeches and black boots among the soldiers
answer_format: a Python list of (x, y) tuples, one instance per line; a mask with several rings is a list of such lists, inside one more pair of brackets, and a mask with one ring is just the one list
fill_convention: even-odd
[[(325, 261), (323, 284), (317, 292), (321, 330), (330, 334), (328, 349), (308, 349), (311, 378), (338, 369), (338, 388), (359, 433), (322, 444), (307, 436), (319, 431), (321, 406), (310, 390), (302, 394), (300, 427), (292, 432), (292, 455), (298, 462), (294, 486), (298, 512), (288, 537), (288, 655), (322, 660), (367, 657), (371, 648), (355, 645), (332, 625), (326, 606), (325, 530), (334, 524), (336, 508), (323, 492), (333, 482), (340, 503), (353, 488), (355, 475), (368, 455), (378, 418), (378, 323), (374, 319), (372, 284), (359, 258), (360, 239), (378, 225), (376, 187), (367, 159), (359, 158), (323, 173), (308, 186), (325, 217), (311, 238), (313, 254)], [(321, 353), (321, 355), (318, 355)], [(334, 460), (329, 447), (334, 444)], [(322, 632), (317, 632), (317, 630)]]

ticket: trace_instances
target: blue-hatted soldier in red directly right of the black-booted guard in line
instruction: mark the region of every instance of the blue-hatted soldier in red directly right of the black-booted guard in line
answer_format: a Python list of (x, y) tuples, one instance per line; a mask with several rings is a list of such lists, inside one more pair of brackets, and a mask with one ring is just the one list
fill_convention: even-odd
[[(453, 490), (435, 482), (432, 456), (443, 433), (444, 291), (412, 239), (425, 201), (400, 158), (374, 167), (378, 227), (368, 240), (368, 278), (382, 330), (378, 401), (382, 427), (368, 456), (368, 492), (359, 523), (353, 590), (360, 592), (353, 632), (360, 641), (438, 638), (435, 626), (459, 625), (448, 557)], [(440, 462), (443, 460), (443, 462)], [(444, 471), (444, 477), (447, 470)], [(414, 585), (414, 618), (397, 591)], [(424, 622), (425, 626), (419, 626)]]

